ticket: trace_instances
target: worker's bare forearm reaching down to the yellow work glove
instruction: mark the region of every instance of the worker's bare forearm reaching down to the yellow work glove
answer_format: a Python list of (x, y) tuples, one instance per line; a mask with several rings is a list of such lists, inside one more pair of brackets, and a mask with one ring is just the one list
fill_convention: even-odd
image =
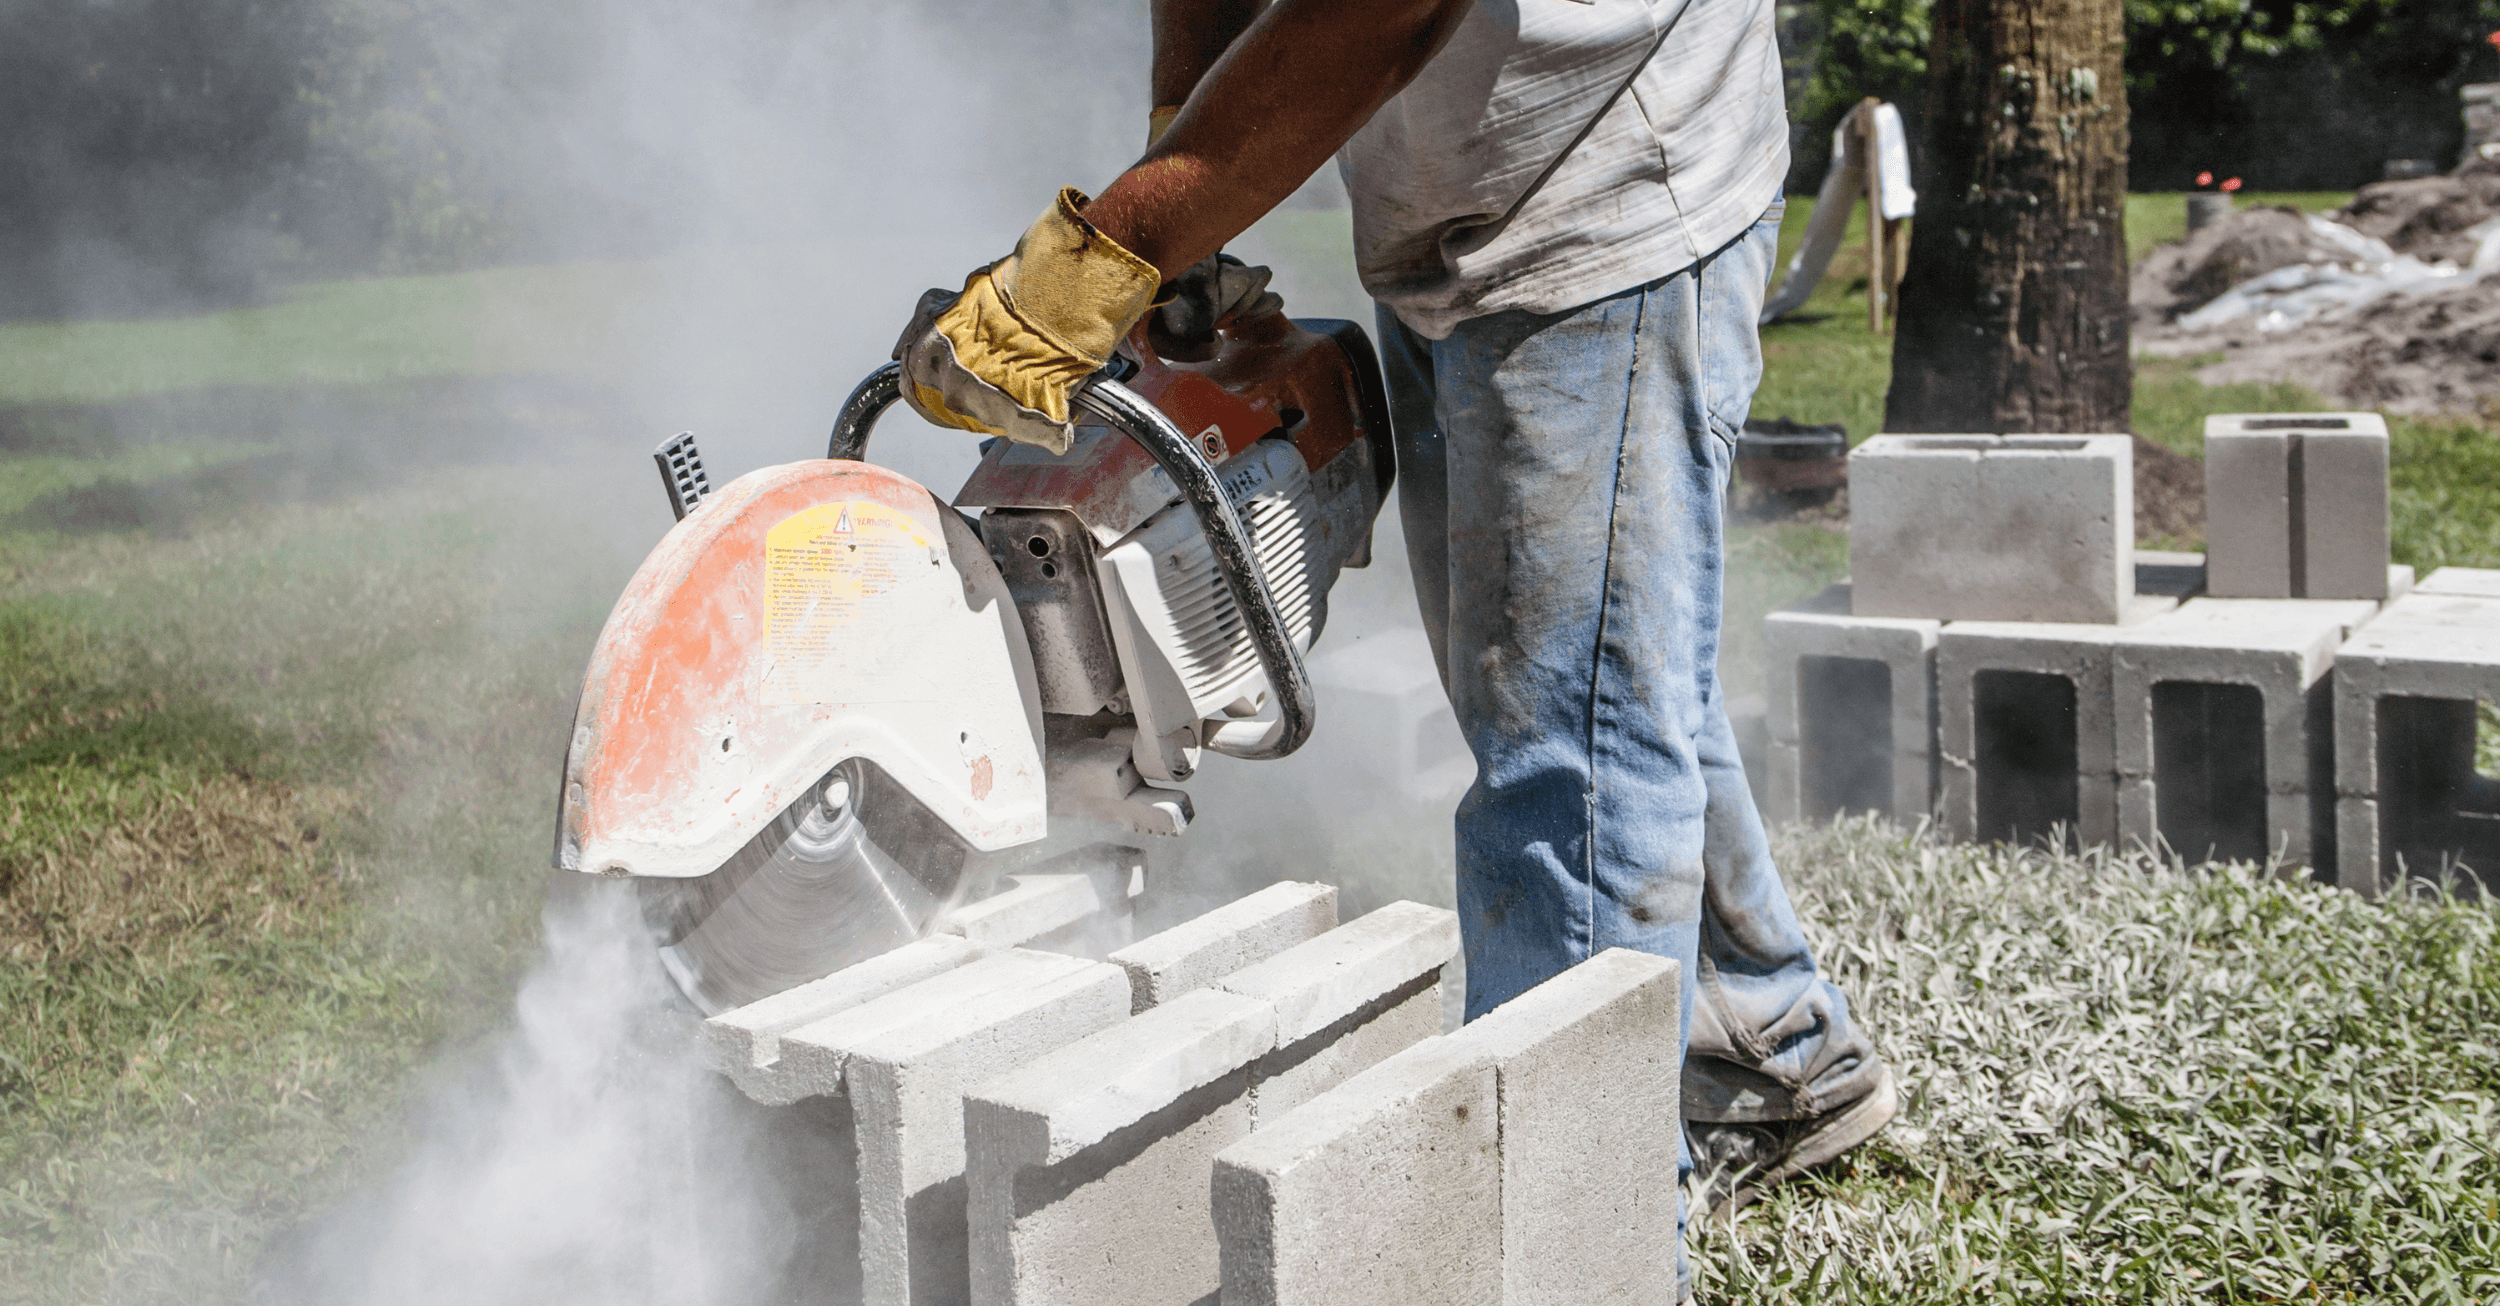
[(1155, 103), (1185, 80), (1192, 88), (1162, 140), (1085, 208), (1085, 220), (1178, 275), (1318, 173), (1422, 73), (1470, 3), (1275, 0), (1200, 75), (1195, 60), (1225, 35), (1230, 10), (1248, 5), (1158, 0)]

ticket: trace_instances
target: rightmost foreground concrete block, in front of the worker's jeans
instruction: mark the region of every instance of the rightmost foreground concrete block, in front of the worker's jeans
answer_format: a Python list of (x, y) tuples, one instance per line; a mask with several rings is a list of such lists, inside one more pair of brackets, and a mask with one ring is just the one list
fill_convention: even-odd
[(1260, 1121), (1222, 1301), (1675, 1301), (1678, 1018), (1672, 961), (1608, 951)]

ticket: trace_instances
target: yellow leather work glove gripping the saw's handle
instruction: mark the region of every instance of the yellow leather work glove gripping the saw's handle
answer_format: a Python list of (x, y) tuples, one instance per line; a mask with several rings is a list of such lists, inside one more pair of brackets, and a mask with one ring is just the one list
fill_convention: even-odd
[(902, 398), (922, 418), (1068, 453), (1068, 393), (1155, 303), (1162, 275), (1088, 223), (1060, 190), (1015, 253), (960, 295), (930, 290), (895, 343)]

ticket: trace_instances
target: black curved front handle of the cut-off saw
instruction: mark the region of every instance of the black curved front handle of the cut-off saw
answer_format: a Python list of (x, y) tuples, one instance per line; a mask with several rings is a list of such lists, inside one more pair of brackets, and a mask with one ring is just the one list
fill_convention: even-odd
[[(898, 398), (902, 398), (900, 363), (888, 363), (868, 373), (868, 380), (842, 403), (842, 415), (832, 423), (832, 440), (825, 448), (825, 458), (862, 460), (870, 428), (878, 425), (878, 418)], [(1160, 408), (1105, 373), (1095, 373), (1072, 398), (1080, 408), (1102, 418), (1105, 425), (1155, 455), (1162, 473), (1180, 488), (1180, 498), (1198, 513), (1198, 525), (1208, 535), (1208, 550), (1215, 553), (1215, 570), (1225, 578), (1225, 590), (1232, 593), (1232, 610), (1242, 615), (1258, 666), (1268, 673), (1268, 688), (1275, 691), (1275, 721), (1230, 721), (1218, 726), (1200, 746), (1245, 761), (1272, 761), (1292, 753), (1310, 738), (1310, 726), (1318, 718), (1318, 696), (1310, 691), (1310, 673), (1302, 671), (1302, 653), (1292, 645), (1285, 618), (1275, 610), (1268, 573), (1260, 570), (1258, 555), (1250, 553), (1250, 533), (1242, 530), (1240, 513), (1232, 510), (1222, 483), (1215, 480), (1215, 468), (1198, 453), (1198, 443), (1182, 435)]]

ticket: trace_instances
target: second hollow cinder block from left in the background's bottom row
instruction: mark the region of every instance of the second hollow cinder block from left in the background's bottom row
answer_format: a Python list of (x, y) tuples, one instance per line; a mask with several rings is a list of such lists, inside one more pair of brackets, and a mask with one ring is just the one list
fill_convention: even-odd
[(2125, 625), (1955, 620), (1935, 640), (1938, 813), (1955, 838), (2118, 836), (2110, 650)]

